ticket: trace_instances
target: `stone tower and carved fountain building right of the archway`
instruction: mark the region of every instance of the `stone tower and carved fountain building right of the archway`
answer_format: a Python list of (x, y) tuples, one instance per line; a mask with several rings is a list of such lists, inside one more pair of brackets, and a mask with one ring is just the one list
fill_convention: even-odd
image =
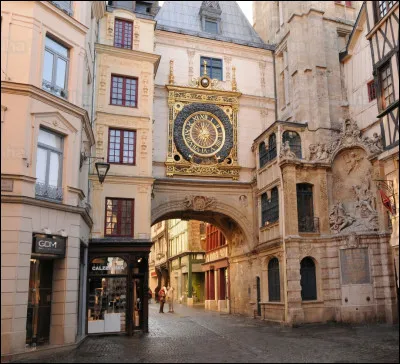
[[(266, 319), (397, 320), (388, 219), (376, 185), (383, 146), (374, 102), (363, 103), (361, 88), (371, 79), (362, 27), (354, 25), (361, 5), (254, 3), (256, 30), (276, 43), (276, 121), (253, 145), (255, 253), (262, 253), (251, 264), (256, 292), (249, 298)], [(268, 26), (267, 13), (275, 19)], [(354, 60), (340, 62), (349, 44)]]

